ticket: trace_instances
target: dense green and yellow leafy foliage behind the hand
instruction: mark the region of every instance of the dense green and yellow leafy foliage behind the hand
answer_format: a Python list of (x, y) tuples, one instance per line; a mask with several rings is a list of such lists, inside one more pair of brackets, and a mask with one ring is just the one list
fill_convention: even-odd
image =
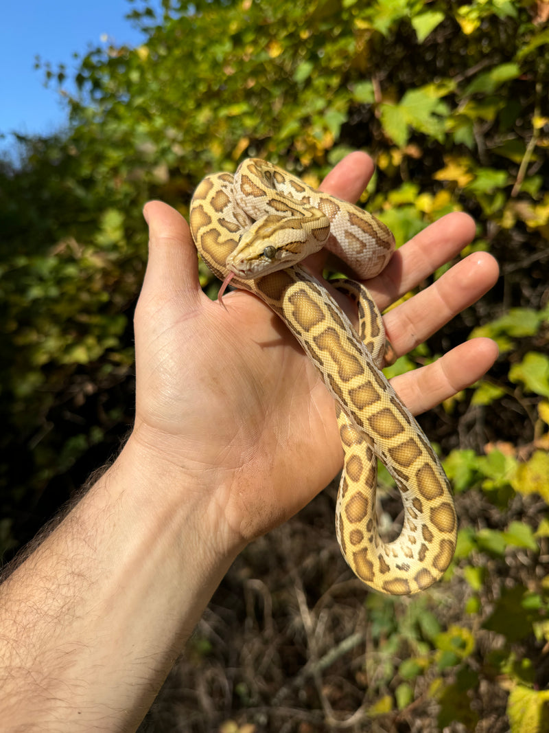
[[(299, 545), (294, 533), (280, 573), (258, 543), (182, 663), (201, 692), (178, 697), (177, 729), (305, 733), (336, 729), (358, 709), (349, 730), (548, 731), (548, 3), (163, 7), (155, 18), (146, 2), (132, 5), (147, 32), (140, 48), (81, 59), (69, 132), (21, 139), (20, 166), (0, 166), (1, 544), (26, 539), (131, 423), (143, 202), (158, 197), (186, 214), (203, 174), (234, 170), (244, 157), (315, 183), (346, 152), (365, 149), (378, 167), (362, 200), (397, 243), (464, 210), (478, 229), (462, 255), (485, 249), (501, 263), (487, 298), (391, 372), (470, 335), (498, 341), (487, 379), (423, 419), (458, 498), (456, 559), (447, 582), (418, 600), (366, 595), (348, 581), (326, 626), (326, 593), (346, 573), (337, 553), (329, 570), (312, 571), (308, 540)], [(62, 89), (64, 71), (46, 73)], [(391, 502), (388, 486), (384, 506)], [(326, 558), (332, 527), (321, 535)], [(248, 603), (258, 588), (262, 630)], [(216, 629), (227, 633), (228, 614), (217, 609), (228, 603), (228, 633), (242, 654), (269, 648), (269, 674), (261, 664), (250, 674), (238, 649), (220, 651)], [(300, 645), (301, 669), (288, 651)], [(229, 666), (240, 672), (216, 694), (207, 671)], [(163, 715), (153, 712), (150, 725), (164, 729)]]

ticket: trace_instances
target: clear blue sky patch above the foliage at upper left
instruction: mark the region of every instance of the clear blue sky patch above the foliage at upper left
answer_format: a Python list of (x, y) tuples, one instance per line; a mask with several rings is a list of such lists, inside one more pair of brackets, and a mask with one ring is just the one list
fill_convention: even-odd
[[(44, 87), (44, 72), (34, 58), (75, 68), (74, 52), (105, 45), (138, 45), (141, 34), (124, 15), (134, 5), (127, 0), (4, 0), (0, 22), (0, 136), (12, 131), (48, 134), (62, 127), (67, 111), (56, 85)], [(157, 7), (157, 5), (156, 5)], [(11, 136), (0, 137), (0, 150), (12, 147)]]

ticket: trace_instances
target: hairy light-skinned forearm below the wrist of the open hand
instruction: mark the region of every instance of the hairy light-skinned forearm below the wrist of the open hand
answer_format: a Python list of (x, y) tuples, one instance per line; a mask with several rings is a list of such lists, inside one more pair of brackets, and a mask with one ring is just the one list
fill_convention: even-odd
[(197, 487), (176, 503), (171, 469), (137, 458), (130, 441), (0, 588), (3, 730), (135, 729), (234, 557), (205, 542)]

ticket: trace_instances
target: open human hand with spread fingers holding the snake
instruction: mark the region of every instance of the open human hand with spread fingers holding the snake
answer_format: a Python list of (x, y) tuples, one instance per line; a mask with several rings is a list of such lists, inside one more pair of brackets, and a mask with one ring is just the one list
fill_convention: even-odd
[[(372, 172), (370, 158), (354, 153), (322, 188), (354, 201)], [(242, 545), (293, 515), (340, 470), (333, 399), (264, 303), (232, 292), (225, 295), (224, 309), (203, 295), (195, 247), (176, 211), (150, 202), (145, 215), (151, 236), (135, 315), (138, 383), (130, 440), (153, 464), (170, 466), (170, 486), (163, 491), (174, 501), (180, 485), (193, 482), (210, 536)], [(471, 218), (455, 213), (414, 237), (367, 283), (380, 309), (452, 259), (473, 236)], [(317, 275), (319, 254), (307, 263)], [(386, 314), (387, 338), (397, 356), (476, 301), (497, 275), (493, 257), (471, 255)], [(392, 383), (417, 414), (479, 379), (496, 356), (490, 339), (474, 339)]]

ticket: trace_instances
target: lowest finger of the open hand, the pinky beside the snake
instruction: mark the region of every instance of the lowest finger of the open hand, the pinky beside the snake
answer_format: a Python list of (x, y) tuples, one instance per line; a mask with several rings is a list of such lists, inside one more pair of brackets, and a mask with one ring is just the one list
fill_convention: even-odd
[(480, 379), (498, 358), (492, 339), (471, 339), (433, 364), (394, 377), (392, 386), (408, 410), (419, 415)]

